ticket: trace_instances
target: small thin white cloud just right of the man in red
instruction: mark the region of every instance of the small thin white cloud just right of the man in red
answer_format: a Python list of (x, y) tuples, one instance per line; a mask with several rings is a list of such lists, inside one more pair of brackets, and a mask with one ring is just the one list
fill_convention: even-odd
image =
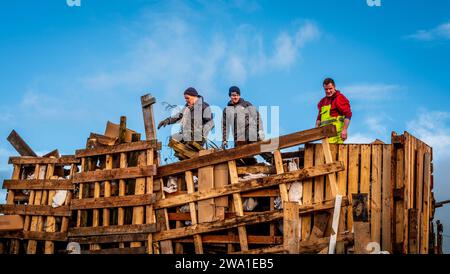
[(354, 84), (342, 87), (342, 92), (351, 100), (386, 100), (401, 92), (403, 86), (395, 84)]

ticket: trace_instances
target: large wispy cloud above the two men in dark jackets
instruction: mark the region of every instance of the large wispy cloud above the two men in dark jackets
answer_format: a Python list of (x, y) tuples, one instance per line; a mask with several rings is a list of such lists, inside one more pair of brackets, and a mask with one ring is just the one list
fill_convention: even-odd
[[(235, 5), (240, 7), (243, 2)], [(204, 24), (202, 18), (187, 6), (171, 7), (163, 14), (149, 11), (143, 16), (137, 24), (148, 26), (143, 33), (134, 25), (124, 27), (128, 33), (140, 35), (130, 41), (132, 46), (118, 61), (119, 66), (86, 75), (80, 80), (82, 84), (94, 90), (160, 85), (165, 100), (176, 98), (187, 85), (211, 95), (217, 92), (220, 81), (243, 84), (252, 76), (291, 67), (300, 60), (301, 49), (320, 38), (314, 22), (280, 30), (270, 40), (267, 37), (271, 34), (264, 29), (246, 24), (214, 29), (213, 35), (205, 35), (204, 28), (199, 28)]]

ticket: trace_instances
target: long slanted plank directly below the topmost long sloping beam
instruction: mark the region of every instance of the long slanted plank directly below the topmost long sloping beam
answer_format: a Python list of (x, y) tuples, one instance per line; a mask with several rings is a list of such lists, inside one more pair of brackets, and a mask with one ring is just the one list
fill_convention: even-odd
[(183, 194), (166, 198), (164, 200), (156, 201), (154, 207), (155, 209), (160, 209), (160, 208), (180, 206), (189, 202), (196, 202), (199, 200), (211, 199), (221, 197), (224, 195), (230, 195), (239, 192), (253, 191), (260, 188), (276, 186), (282, 182), (288, 183), (313, 178), (317, 176), (323, 176), (324, 174), (327, 174), (329, 172), (336, 172), (342, 169), (343, 166), (342, 163), (340, 162), (299, 169), (292, 172), (286, 172), (284, 174), (262, 177), (255, 180), (241, 181), (239, 183), (227, 185), (208, 192), (203, 193), (195, 192), (192, 194)]

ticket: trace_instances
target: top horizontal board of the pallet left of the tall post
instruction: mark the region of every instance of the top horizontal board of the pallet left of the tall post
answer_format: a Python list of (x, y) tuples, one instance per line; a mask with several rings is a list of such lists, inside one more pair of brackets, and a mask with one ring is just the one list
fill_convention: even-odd
[(124, 143), (109, 147), (97, 147), (91, 149), (79, 149), (75, 152), (76, 158), (91, 157), (122, 152), (142, 151), (147, 149), (158, 149), (160, 143), (156, 141), (139, 141), (133, 143)]

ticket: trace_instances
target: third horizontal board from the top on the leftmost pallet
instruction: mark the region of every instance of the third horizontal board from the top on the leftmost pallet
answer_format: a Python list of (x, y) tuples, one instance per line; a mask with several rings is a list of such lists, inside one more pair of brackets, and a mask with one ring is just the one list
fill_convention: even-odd
[(68, 206), (53, 208), (49, 205), (0, 205), (0, 213), (8, 215), (66, 216), (72, 212)]

